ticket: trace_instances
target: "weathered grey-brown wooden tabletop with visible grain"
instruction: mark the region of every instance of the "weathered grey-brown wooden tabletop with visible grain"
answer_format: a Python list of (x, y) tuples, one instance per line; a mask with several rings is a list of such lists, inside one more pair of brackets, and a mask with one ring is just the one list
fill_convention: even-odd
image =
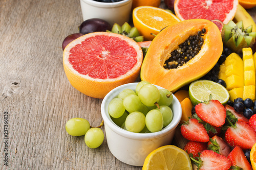
[(102, 121), (102, 100), (73, 88), (62, 66), (62, 41), (81, 22), (79, 0), (0, 0), (0, 169), (142, 169), (117, 160), (105, 139), (90, 149), (65, 130), (73, 117)]

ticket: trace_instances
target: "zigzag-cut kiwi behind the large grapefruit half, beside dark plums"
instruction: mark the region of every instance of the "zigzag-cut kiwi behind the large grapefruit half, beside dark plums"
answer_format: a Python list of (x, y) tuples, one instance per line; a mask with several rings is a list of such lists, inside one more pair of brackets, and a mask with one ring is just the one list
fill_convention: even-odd
[(126, 37), (132, 38), (136, 42), (141, 42), (144, 40), (144, 37), (140, 35), (138, 29), (136, 27), (131, 27), (127, 22), (125, 22), (122, 26), (120, 26), (118, 23), (114, 23), (112, 30), (106, 30), (106, 32), (122, 34)]

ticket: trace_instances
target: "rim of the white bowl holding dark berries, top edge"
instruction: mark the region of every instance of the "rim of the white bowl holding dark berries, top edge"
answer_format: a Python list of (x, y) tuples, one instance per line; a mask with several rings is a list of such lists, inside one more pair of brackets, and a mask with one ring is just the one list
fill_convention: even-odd
[(80, 1), (89, 5), (92, 5), (95, 7), (101, 7), (101, 8), (114, 8), (114, 7), (119, 7), (119, 6), (129, 4), (130, 2), (132, 2), (132, 0), (123, 0), (115, 3), (102, 3), (102, 2), (97, 2), (93, 0), (80, 0)]

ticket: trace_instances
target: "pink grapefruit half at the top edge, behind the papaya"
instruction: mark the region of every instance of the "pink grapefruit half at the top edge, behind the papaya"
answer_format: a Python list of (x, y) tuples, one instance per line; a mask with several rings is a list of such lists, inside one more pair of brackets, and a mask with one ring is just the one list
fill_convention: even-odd
[(219, 19), (224, 24), (232, 20), (237, 12), (238, 0), (176, 0), (174, 11), (180, 20)]

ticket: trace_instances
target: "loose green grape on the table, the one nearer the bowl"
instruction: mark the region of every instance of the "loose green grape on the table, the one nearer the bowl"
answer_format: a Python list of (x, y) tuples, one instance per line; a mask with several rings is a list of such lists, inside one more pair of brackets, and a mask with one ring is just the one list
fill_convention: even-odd
[(104, 140), (104, 133), (100, 128), (91, 128), (84, 136), (84, 141), (89, 148), (98, 148)]

